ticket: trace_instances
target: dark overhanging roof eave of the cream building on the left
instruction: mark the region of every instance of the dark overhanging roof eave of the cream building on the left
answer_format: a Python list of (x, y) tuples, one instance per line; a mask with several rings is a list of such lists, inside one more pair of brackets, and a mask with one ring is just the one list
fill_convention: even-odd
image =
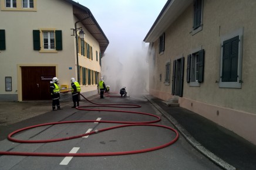
[[(100, 53), (103, 54), (109, 45), (109, 40), (92, 15), (92, 12), (90, 12), (90, 9), (72, 0), (65, 1), (73, 5), (73, 15), (75, 15), (78, 20), (81, 20), (80, 23), (82, 23), (89, 33), (99, 42)], [(85, 19), (89, 16), (90, 18)]]

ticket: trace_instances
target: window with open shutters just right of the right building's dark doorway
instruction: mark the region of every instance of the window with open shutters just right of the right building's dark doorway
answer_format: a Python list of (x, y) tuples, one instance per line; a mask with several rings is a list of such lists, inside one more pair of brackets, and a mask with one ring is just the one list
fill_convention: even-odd
[(187, 82), (190, 86), (200, 86), (204, 80), (204, 50), (187, 56)]

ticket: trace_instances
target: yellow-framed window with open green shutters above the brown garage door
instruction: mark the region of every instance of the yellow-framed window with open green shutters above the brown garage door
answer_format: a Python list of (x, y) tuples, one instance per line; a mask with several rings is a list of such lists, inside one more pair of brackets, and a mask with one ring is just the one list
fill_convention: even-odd
[(46, 53), (62, 50), (62, 31), (33, 30), (33, 49)]

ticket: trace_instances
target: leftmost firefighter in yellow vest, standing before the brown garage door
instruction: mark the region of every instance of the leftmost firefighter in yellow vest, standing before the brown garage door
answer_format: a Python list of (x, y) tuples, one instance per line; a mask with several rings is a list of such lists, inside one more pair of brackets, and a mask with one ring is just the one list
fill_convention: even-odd
[(50, 82), (50, 95), (52, 96), (52, 110), (55, 110), (55, 106), (57, 106), (57, 109), (60, 110), (60, 104), (59, 104), (59, 86), (58, 86), (58, 78), (53, 77), (52, 81)]

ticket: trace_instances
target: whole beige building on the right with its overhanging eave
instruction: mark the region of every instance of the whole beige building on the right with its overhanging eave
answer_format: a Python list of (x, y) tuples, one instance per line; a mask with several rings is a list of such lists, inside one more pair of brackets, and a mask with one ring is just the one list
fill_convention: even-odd
[(254, 0), (169, 0), (144, 38), (151, 95), (178, 99), (254, 144), (255, 8)]

